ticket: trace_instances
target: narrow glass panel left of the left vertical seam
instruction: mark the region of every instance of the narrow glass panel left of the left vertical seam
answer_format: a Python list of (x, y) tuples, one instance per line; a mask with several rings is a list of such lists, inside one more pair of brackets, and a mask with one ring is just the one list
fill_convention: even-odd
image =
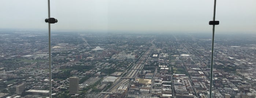
[(0, 97), (48, 97), (47, 1), (1, 0), (0, 13)]

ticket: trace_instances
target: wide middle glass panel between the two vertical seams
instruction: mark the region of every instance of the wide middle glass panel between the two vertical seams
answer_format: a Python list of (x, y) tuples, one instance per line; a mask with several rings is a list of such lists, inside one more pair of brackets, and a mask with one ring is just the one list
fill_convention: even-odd
[[(57, 81), (53, 85), (59, 87), (53, 93), (99, 98), (206, 96), (207, 63), (192, 51), (204, 49), (199, 38), (211, 38), (207, 22), (212, 19), (212, 3), (203, 3), (52, 1), (51, 16), (59, 20), (51, 25)], [(200, 73), (192, 76), (194, 71)]]

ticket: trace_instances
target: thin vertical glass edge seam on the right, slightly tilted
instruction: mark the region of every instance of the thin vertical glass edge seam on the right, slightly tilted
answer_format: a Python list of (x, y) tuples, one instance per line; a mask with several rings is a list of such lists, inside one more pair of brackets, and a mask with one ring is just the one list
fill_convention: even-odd
[[(215, 10), (216, 10), (216, 0), (214, 0), (214, 16), (213, 21), (215, 21)], [(212, 97), (212, 67), (213, 67), (213, 54), (214, 54), (214, 30), (215, 25), (212, 25), (212, 54), (211, 54), (211, 80), (210, 80), (210, 98)]]

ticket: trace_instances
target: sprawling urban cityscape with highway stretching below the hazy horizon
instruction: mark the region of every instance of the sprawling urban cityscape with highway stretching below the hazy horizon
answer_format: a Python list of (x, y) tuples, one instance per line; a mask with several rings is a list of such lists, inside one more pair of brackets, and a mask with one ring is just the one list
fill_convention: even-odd
[[(209, 98), (211, 33), (0, 31), (0, 98)], [(216, 34), (212, 98), (256, 98), (256, 34)]]

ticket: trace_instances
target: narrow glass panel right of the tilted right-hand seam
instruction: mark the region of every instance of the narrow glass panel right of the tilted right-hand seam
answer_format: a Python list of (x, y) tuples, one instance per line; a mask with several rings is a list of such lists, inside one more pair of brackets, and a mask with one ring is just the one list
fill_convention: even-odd
[[(217, 1), (214, 48), (215, 97), (255, 97), (255, 1)], [(228, 4), (228, 6), (227, 6)], [(252, 13), (251, 13), (252, 12)]]

